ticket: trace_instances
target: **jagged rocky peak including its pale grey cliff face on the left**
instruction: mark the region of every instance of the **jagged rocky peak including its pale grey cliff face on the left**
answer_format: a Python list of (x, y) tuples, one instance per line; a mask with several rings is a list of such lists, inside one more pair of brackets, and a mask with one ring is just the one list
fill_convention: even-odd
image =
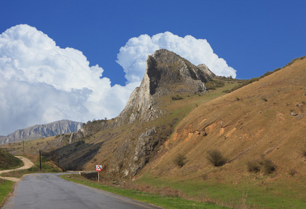
[(199, 68), (174, 52), (159, 49), (146, 60), (141, 85), (130, 95), (128, 104), (116, 118), (115, 125), (133, 123), (139, 118), (148, 122), (163, 113), (157, 98), (179, 92), (205, 93), (205, 83), (214, 76), (206, 65)]

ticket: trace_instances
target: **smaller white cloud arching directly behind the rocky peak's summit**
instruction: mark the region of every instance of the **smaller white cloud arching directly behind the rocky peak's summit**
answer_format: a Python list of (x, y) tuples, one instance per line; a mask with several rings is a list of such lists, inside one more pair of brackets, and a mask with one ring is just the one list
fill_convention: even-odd
[(236, 70), (213, 53), (207, 40), (196, 39), (192, 36), (182, 38), (165, 32), (152, 37), (141, 35), (138, 38), (130, 38), (126, 45), (121, 47), (117, 55), (117, 63), (123, 67), (128, 83), (141, 81), (146, 69), (146, 58), (157, 49), (168, 49), (175, 52), (194, 65), (204, 63), (216, 75), (236, 77)]

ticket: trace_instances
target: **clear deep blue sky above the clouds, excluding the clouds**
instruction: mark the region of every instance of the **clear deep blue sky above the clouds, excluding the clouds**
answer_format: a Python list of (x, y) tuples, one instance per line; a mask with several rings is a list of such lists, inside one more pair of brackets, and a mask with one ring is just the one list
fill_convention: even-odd
[(306, 1), (3, 1), (0, 31), (29, 24), (60, 47), (84, 53), (105, 69), (112, 84), (124, 84), (116, 63), (120, 47), (141, 34), (170, 31), (208, 40), (237, 70), (258, 77), (282, 67), (306, 46)]

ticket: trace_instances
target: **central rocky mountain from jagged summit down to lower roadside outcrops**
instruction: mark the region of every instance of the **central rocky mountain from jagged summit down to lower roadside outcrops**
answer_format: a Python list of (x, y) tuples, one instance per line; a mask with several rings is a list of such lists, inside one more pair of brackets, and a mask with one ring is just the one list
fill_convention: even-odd
[[(95, 134), (93, 130), (96, 130), (100, 132), (100, 136), (95, 141), (100, 139), (101, 147), (89, 148), (91, 154), (84, 156), (66, 153), (65, 156), (68, 154), (69, 158), (63, 157), (62, 163), (82, 164), (84, 168), (89, 168), (92, 167), (89, 159), (94, 155), (94, 158), (103, 155), (105, 173), (109, 176), (135, 176), (158, 152), (160, 144), (167, 140), (179, 120), (172, 117), (175, 115), (169, 117), (170, 113), (165, 108), (165, 98), (174, 101), (183, 99), (181, 95), (204, 95), (205, 84), (213, 83), (213, 77), (215, 75), (206, 65), (198, 68), (166, 49), (154, 52), (146, 60), (146, 72), (141, 85), (132, 92), (121, 114), (111, 121), (93, 121), (86, 124), (70, 137), (70, 144), (73, 144), (88, 139)], [(162, 119), (165, 117), (167, 119)], [(157, 119), (164, 121), (151, 123)], [(98, 152), (98, 156), (93, 150)]]

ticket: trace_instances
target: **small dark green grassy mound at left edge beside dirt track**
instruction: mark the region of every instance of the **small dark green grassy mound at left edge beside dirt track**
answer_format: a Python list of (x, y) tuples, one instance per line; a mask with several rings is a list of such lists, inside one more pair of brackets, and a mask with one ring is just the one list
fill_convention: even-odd
[(22, 166), (22, 160), (10, 155), (6, 150), (0, 149), (0, 170), (15, 169)]

